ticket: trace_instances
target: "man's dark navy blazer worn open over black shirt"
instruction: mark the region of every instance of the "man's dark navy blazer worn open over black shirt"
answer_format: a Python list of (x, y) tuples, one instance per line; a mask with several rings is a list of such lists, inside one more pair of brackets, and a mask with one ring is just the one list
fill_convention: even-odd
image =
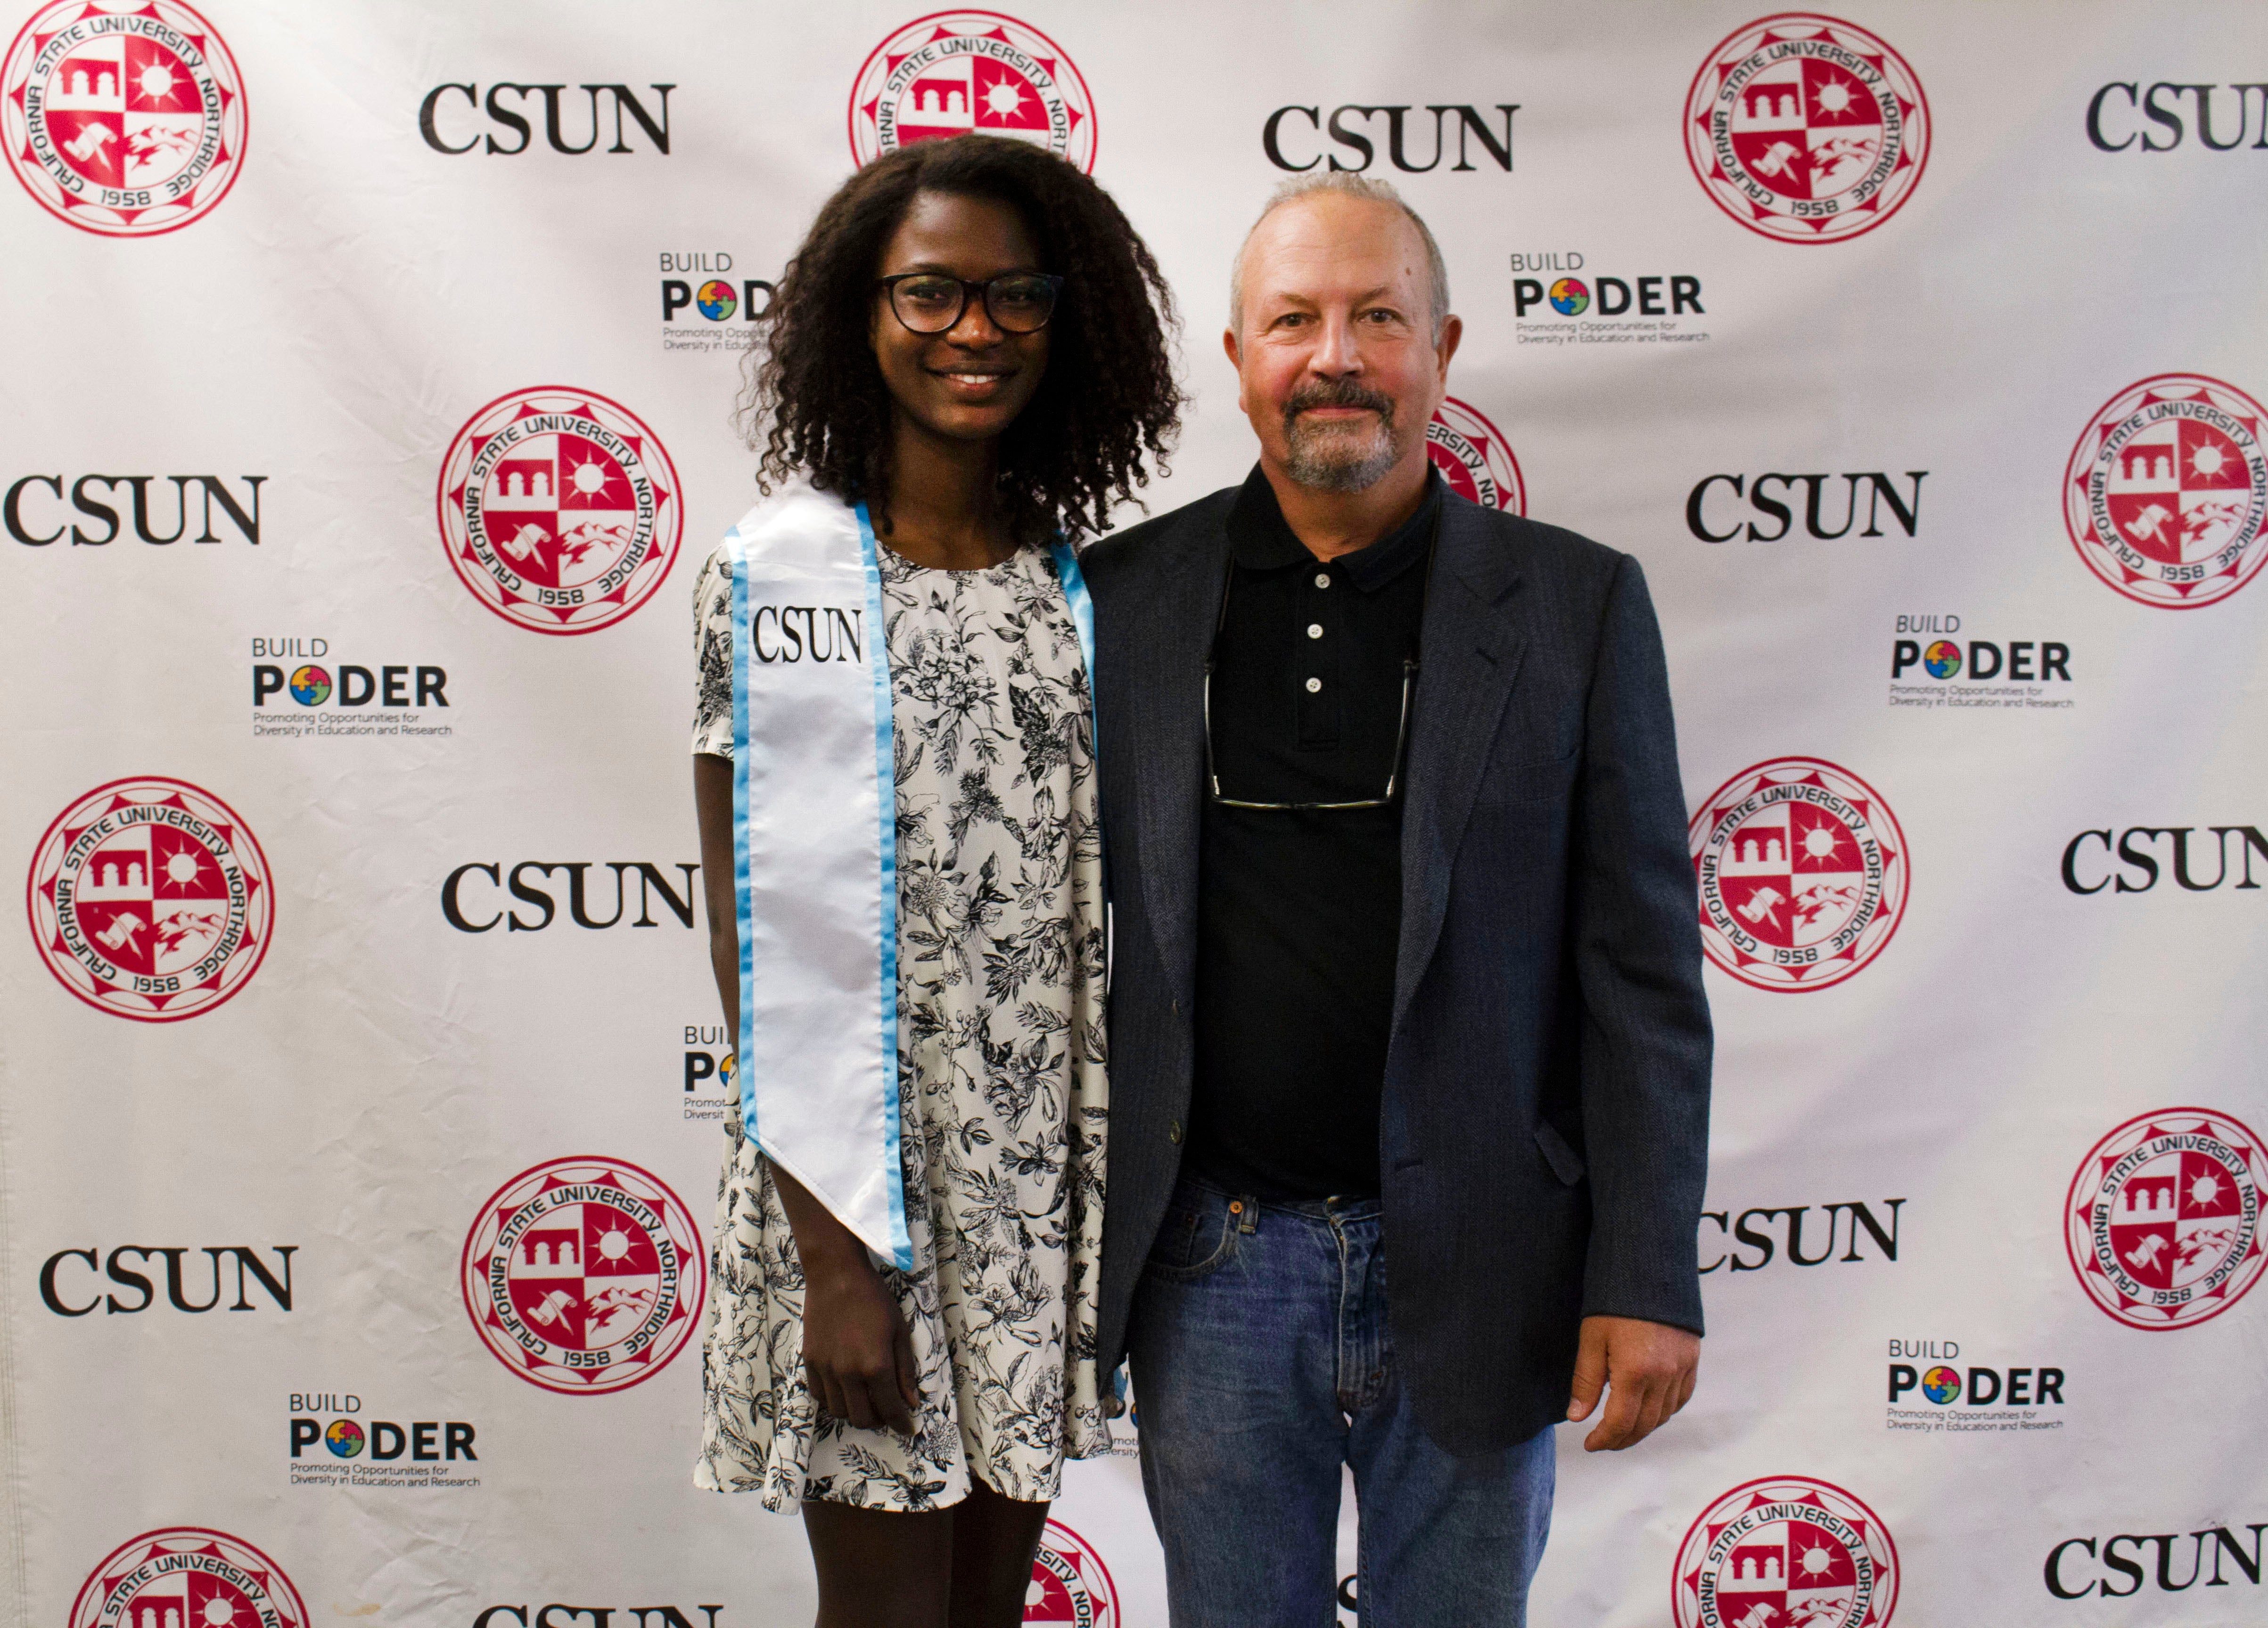
[[(1179, 1175), (1200, 687), (1236, 487), (1082, 560), (1114, 923), (1100, 1360)], [(1567, 1415), (1579, 1322), (1701, 1331), (1710, 1020), (1637, 560), (1445, 494), (1402, 812), (1379, 1116), (1399, 1383), (1452, 1453)]]

